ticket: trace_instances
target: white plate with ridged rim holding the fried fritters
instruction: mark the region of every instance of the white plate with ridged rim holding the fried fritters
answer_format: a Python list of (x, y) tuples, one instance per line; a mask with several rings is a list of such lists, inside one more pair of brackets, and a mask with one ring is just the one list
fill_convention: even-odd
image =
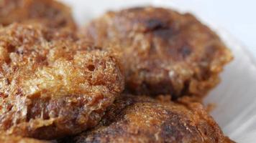
[[(232, 49), (234, 61), (224, 68), (221, 84), (206, 97), (205, 103), (215, 103), (216, 108), (211, 115), (216, 119), (223, 132), (236, 142), (256, 142), (256, 60), (207, 15), (200, 6), (191, 1), (170, 0), (63, 0), (70, 4), (74, 16), (80, 25), (86, 24), (107, 10), (117, 10), (129, 6), (165, 6), (177, 11), (190, 11), (205, 24), (214, 29), (221, 39)], [(196, 0), (195, 0), (196, 1)], [(195, 2), (193, 1), (193, 2)], [(207, 9), (204, 9), (206, 11)]]

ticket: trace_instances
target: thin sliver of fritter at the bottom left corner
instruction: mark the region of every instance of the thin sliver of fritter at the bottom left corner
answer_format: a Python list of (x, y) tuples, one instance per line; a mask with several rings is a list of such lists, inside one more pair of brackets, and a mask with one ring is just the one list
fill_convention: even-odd
[(6, 135), (0, 135), (0, 142), (1, 143), (50, 143), (47, 141), (42, 141), (37, 139), (29, 139), (24, 137), (6, 136)]

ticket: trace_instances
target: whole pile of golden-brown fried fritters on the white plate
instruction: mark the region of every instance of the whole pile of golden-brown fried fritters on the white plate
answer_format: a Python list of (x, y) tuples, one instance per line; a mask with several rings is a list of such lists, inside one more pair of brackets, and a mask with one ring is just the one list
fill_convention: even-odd
[(180, 98), (232, 59), (191, 14), (111, 11), (77, 32), (60, 2), (0, 0), (0, 24), (0, 142), (232, 142)]

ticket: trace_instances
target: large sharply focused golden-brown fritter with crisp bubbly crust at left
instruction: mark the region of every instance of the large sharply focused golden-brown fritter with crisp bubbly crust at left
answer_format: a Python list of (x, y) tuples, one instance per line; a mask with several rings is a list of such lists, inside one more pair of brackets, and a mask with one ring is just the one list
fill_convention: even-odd
[(98, 124), (124, 87), (114, 51), (40, 25), (0, 28), (0, 133), (52, 139)]

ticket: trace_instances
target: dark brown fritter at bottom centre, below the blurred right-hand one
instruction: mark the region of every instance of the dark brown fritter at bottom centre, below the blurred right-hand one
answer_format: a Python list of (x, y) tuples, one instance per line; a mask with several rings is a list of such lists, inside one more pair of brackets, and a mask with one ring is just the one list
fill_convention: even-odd
[(160, 102), (150, 97), (126, 95), (109, 107), (95, 129), (63, 139), (63, 142), (210, 143), (228, 140), (201, 104)]

